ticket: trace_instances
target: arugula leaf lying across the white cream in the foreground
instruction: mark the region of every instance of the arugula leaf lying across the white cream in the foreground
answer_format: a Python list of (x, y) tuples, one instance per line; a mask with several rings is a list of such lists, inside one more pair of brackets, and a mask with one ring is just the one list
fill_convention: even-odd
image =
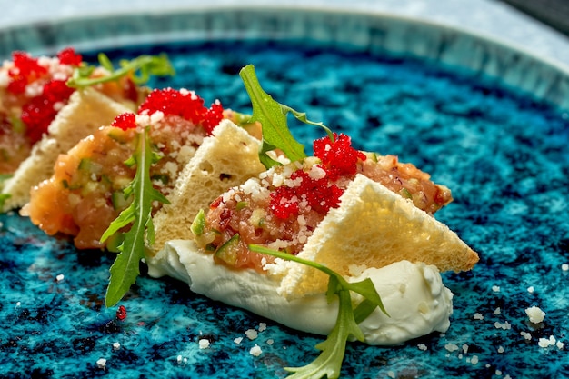
[[(358, 324), (364, 321), (377, 307), (384, 314), (387, 314), (381, 297), (375, 290), (374, 283), (369, 278), (361, 282), (348, 283), (341, 274), (337, 274), (323, 264), (307, 261), (296, 255), (278, 252), (264, 246), (251, 244), (249, 249), (256, 253), (273, 255), (277, 258), (306, 264), (330, 277), (326, 292), (328, 303), (334, 300), (334, 295), (337, 295), (339, 299), (338, 316), (334, 329), (328, 334), (324, 342), (316, 345), (316, 349), (321, 350), (322, 353), (312, 363), (303, 367), (285, 367), (284, 369), (294, 373), (288, 377), (290, 379), (316, 379), (324, 376), (328, 379), (338, 378), (344, 361), (345, 345), (350, 336), (353, 335), (358, 341), (364, 341), (364, 334)], [(352, 307), (351, 292), (364, 296), (364, 301), (355, 309)]]

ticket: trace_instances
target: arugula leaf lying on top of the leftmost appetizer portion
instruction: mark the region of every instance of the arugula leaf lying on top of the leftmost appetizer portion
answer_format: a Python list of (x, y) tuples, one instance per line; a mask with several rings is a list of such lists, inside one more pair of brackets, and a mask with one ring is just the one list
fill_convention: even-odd
[(132, 73), (133, 81), (137, 85), (145, 84), (151, 75), (165, 76), (174, 75), (175, 71), (168, 56), (161, 55), (140, 55), (133, 60), (121, 60), (120, 68), (115, 69), (111, 60), (104, 53), (98, 55), (99, 65), (104, 67), (109, 75), (91, 77), (95, 71), (94, 65), (82, 64), (75, 69), (72, 77), (67, 81), (67, 85), (73, 88), (85, 88), (100, 83), (113, 82), (125, 75)]

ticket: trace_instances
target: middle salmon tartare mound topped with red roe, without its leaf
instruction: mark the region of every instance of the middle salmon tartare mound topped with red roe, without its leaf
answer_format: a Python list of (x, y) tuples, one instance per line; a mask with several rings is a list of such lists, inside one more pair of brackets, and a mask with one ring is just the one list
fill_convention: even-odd
[[(206, 108), (194, 92), (155, 90), (137, 114), (116, 116), (110, 126), (60, 155), (54, 175), (32, 189), (21, 214), (46, 234), (75, 236), (80, 249), (105, 247), (100, 241), (103, 233), (133, 200), (124, 190), (135, 178), (135, 164), (128, 160), (138, 148), (142, 130), (148, 127), (154, 149), (152, 185), (168, 196), (177, 175), (222, 118), (218, 102)], [(151, 206), (155, 214), (161, 204)]]

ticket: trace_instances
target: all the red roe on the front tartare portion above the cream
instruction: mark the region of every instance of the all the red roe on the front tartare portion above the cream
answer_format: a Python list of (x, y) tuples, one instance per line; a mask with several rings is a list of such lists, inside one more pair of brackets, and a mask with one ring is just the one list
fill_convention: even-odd
[(351, 177), (357, 172), (357, 161), (365, 155), (352, 147), (347, 135), (335, 135), (334, 142), (328, 137), (314, 141), (314, 155), (321, 160), (318, 165), (326, 175), (313, 178), (303, 169), (296, 170), (290, 179), (300, 180), (297, 186), (280, 186), (271, 193), (269, 207), (276, 217), (287, 219), (300, 213), (300, 203), (305, 202), (314, 211), (326, 214), (330, 208), (337, 208), (344, 190), (333, 182), (341, 176)]

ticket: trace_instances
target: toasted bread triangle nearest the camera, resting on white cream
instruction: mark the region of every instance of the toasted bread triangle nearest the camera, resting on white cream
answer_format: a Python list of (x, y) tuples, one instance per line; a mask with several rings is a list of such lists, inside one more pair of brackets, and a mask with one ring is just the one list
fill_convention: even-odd
[[(401, 260), (434, 264), (441, 271), (470, 270), (476, 254), (446, 225), (411, 201), (357, 175), (314, 230), (299, 257), (350, 276), (353, 264), (380, 268)], [(288, 298), (324, 292), (327, 275), (287, 263), (279, 292)]]

